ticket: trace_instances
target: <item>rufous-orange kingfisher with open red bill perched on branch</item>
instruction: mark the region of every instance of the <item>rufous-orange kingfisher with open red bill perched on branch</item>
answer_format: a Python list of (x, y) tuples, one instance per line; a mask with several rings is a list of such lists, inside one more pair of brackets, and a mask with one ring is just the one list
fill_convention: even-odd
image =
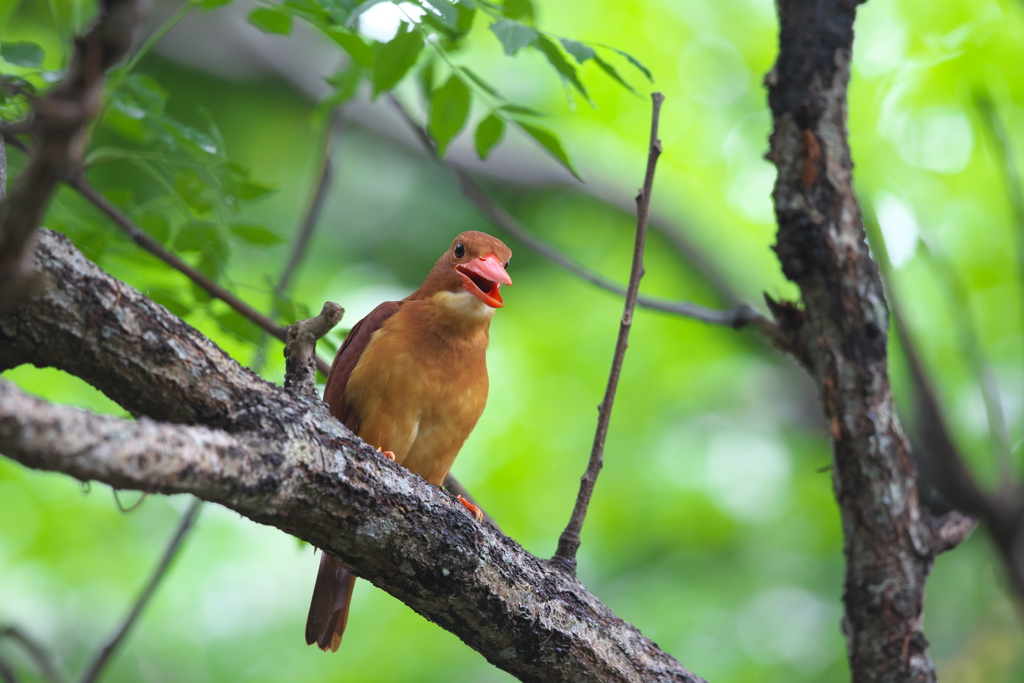
[[(487, 399), (490, 318), (502, 308), (512, 250), (485, 232), (460, 233), (423, 285), (386, 301), (349, 331), (324, 389), (331, 414), (367, 443), (440, 485)], [(479, 508), (460, 502), (480, 521)], [(321, 553), (306, 644), (336, 652), (355, 574)]]

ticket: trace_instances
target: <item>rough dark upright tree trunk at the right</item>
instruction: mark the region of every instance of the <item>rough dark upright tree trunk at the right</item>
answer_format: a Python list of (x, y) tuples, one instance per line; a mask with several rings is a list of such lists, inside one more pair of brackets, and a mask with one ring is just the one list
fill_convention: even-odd
[(775, 251), (803, 308), (772, 304), (775, 341), (815, 379), (829, 421), (853, 680), (934, 681), (922, 603), (952, 527), (919, 505), (890, 391), (889, 311), (853, 191), (846, 90), (856, 4), (778, 0), (780, 51), (767, 77)]

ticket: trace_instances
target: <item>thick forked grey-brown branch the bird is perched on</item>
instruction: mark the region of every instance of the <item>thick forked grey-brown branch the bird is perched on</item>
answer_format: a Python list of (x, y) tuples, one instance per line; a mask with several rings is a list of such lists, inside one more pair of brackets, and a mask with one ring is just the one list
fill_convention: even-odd
[(60, 368), (139, 419), (53, 405), (0, 381), (7, 457), (194, 494), (293, 533), (523, 681), (701, 680), (574, 579), (356, 439), (324, 403), (239, 367), (66, 238), (40, 231), (36, 262), (42, 289), (0, 314), (0, 368)]

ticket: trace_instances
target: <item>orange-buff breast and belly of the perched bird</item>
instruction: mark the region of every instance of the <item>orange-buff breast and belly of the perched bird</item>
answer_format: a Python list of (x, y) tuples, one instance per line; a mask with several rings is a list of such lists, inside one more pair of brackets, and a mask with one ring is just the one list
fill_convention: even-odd
[(361, 439), (439, 485), (487, 399), (486, 327), (443, 334), (412, 303), (374, 333), (345, 399)]

